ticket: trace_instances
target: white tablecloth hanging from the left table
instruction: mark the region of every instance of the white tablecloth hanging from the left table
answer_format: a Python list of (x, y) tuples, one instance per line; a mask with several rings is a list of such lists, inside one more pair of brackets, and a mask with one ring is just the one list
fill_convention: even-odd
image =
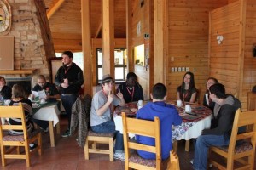
[(55, 126), (59, 122), (58, 115), (60, 111), (57, 105), (49, 105), (40, 108), (34, 115), (34, 119), (43, 120), (43, 121), (53, 121), (53, 125)]

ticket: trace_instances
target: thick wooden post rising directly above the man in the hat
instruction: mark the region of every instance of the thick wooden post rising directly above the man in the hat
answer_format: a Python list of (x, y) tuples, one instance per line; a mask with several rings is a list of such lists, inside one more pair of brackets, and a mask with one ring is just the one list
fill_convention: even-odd
[(113, 0), (102, 0), (102, 59), (103, 75), (114, 77)]

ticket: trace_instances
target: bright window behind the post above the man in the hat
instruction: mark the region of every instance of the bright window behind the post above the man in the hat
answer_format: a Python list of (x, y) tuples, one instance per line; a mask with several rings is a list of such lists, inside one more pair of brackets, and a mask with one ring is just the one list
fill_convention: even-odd
[[(102, 48), (96, 48), (97, 82), (102, 82)], [(124, 82), (127, 74), (127, 55), (125, 48), (114, 49), (114, 79), (115, 82)]]

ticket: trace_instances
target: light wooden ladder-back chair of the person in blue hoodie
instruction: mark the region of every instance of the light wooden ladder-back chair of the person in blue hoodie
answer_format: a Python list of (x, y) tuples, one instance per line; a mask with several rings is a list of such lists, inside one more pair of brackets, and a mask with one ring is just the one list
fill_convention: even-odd
[[(126, 117), (122, 113), (123, 119), (123, 133), (125, 144), (125, 169), (160, 169), (161, 168), (161, 144), (160, 144), (160, 121), (158, 117), (154, 117), (154, 122), (141, 119), (134, 119)], [(146, 144), (137, 144), (129, 141), (128, 133), (148, 136), (155, 139), (155, 146)], [(143, 159), (137, 153), (130, 153), (133, 150), (145, 150), (153, 152), (156, 155), (155, 160)]]

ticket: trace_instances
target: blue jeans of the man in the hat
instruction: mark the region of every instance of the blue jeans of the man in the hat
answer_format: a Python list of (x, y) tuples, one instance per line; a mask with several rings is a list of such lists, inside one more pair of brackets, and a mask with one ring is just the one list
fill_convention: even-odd
[(113, 121), (103, 122), (102, 124), (91, 126), (93, 132), (96, 133), (115, 133), (115, 152), (124, 152), (124, 139), (123, 134), (115, 130), (115, 125)]

